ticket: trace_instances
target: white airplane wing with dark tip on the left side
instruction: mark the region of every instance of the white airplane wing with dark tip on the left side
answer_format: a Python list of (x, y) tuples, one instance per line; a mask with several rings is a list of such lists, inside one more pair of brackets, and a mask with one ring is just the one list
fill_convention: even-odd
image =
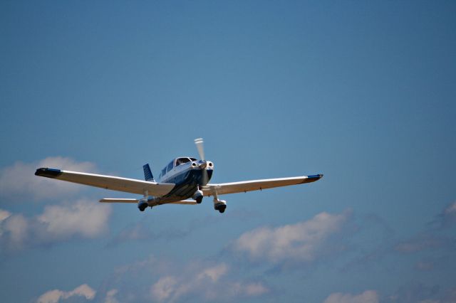
[(172, 183), (156, 183), (137, 179), (120, 178), (118, 176), (87, 174), (77, 171), (61, 171), (60, 169), (48, 168), (36, 169), (35, 175), (88, 186), (106, 188), (113, 191), (139, 193), (140, 195), (143, 195), (145, 191), (148, 191), (150, 196), (164, 196), (175, 186), (175, 184)]

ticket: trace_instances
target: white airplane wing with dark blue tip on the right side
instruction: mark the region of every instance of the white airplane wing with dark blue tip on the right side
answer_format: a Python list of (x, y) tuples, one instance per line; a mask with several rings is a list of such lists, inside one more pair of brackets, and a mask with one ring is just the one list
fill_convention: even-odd
[(204, 193), (204, 196), (214, 196), (214, 193), (217, 193), (217, 195), (223, 195), (225, 193), (242, 193), (247, 191), (258, 191), (266, 188), (310, 183), (318, 181), (319, 179), (321, 179), (321, 177), (323, 177), (323, 175), (319, 174), (314, 176), (297, 176), (291, 178), (251, 180), (222, 184), (207, 184), (207, 186), (202, 186), (202, 191)]

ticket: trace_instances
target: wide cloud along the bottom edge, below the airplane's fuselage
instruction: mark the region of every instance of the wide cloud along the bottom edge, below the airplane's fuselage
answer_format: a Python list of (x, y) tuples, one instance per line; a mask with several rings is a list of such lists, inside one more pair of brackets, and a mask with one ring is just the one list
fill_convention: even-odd
[(182, 265), (151, 256), (119, 267), (98, 292), (102, 298), (116, 289), (119, 302), (233, 302), (271, 292), (264, 282), (235, 277), (236, 272), (226, 262), (190, 260)]

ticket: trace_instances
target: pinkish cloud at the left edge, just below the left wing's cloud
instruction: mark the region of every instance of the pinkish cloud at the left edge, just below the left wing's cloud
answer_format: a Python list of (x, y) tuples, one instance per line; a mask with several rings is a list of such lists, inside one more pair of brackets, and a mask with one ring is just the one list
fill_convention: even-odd
[(73, 237), (95, 238), (107, 230), (110, 212), (110, 206), (87, 200), (46, 206), (32, 218), (0, 211), (4, 216), (0, 220), (1, 249), (16, 251)]

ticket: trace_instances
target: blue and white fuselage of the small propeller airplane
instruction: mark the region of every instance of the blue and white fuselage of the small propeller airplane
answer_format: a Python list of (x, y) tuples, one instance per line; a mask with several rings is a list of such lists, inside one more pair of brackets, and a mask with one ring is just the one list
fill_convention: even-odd
[(214, 164), (211, 161), (198, 161), (192, 157), (179, 157), (170, 161), (170, 164), (162, 169), (158, 182), (172, 183), (175, 187), (165, 196), (153, 200), (162, 204), (191, 198), (200, 186), (209, 182), (213, 169)]

